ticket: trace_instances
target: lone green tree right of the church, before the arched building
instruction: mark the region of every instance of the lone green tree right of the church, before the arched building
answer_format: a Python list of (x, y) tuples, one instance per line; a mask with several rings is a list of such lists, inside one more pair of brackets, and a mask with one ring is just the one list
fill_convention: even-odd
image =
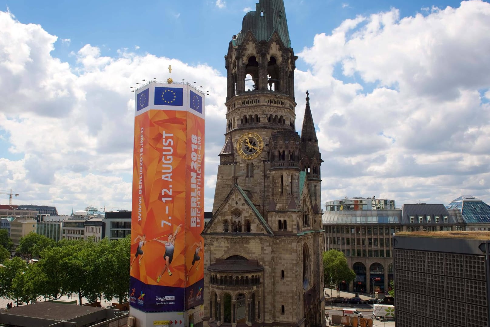
[(332, 281), (338, 285), (342, 281), (349, 283), (356, 278), (356, 273), (349, 268), (344, 254), (337, 250), (323, 252), (323, 280), (325, 286)]

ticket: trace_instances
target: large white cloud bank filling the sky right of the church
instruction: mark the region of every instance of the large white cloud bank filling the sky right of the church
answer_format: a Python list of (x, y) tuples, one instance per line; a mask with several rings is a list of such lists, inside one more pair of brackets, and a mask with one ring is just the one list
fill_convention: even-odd
[(298, 54), (312, 69), (296, 72), (296, 95), (310, 90), (324, 200), (489, 198), (488, 30), (490, 4), (463, 1), (358, 16), (315, 36)]

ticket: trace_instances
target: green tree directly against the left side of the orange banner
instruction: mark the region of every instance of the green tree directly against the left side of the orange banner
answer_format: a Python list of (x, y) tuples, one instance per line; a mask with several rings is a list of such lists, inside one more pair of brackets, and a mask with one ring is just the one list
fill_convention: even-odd
[(107, 277), (102, 293), (108, 300), (116, 298), (120, 304), (129, 292), (129, 260), (131, 235), (109, 243), (109, 251), (101, 256), (104, 276)]

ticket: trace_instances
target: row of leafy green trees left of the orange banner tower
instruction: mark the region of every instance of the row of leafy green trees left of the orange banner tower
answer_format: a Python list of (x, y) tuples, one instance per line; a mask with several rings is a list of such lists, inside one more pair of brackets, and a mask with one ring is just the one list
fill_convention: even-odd
[[(1, 231), (1, 230), (0, 230)], [(131, 239), (60, 240), (29, 233), (21, 238), (17, 252), (39, 257), (27, 264), (18, 256), (10, 258), (11, 246), (0, 233), (0, 297), (17, 305), (38, 297), (58, 298), (76, 293), (95, 302), (100, 296), (123, 303), (129, 291), (129, 252)]]

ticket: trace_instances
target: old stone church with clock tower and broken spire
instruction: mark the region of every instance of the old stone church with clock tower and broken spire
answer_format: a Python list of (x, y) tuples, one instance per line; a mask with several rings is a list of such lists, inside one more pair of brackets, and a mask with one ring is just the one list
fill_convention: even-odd
[(318, 140), (295, 128), (283, 0), (260, 0), (225, 56), (226, 128), (205, 226), (205, 326), (325, 326)]

